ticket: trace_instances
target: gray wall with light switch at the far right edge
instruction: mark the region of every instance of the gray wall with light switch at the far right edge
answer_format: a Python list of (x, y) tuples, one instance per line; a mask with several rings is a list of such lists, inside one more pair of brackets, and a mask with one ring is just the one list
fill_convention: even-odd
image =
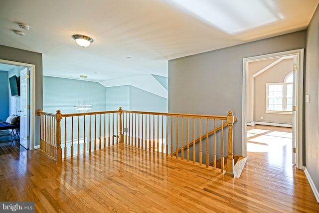
[(305, 94), (310, 102), (305, 103), (304, 154), (306, 168), (319, 191), (319, 8), (317, 8), (307, 30)]

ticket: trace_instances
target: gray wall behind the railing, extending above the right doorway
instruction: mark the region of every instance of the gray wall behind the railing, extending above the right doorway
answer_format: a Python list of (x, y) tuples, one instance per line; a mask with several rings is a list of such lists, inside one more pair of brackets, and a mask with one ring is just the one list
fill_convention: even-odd
[(306, 47), (306, 31), (168, 61), (168, 112), (227, 115), (233, 111), (234, 153), (242, 155), (243, 58)]

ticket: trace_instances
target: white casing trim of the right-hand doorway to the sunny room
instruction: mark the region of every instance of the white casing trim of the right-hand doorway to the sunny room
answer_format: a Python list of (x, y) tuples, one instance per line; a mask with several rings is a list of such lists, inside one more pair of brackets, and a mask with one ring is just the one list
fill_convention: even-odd
[(294, 106), (293, 106), (293, 163), (298, 169), (303, 168), (303, 68), (304, 49), (291, 50), (267, 55), (254, 56), (243, 59), (243, 156), (247, 156), (247, 97), (248, 97), (248, 64), (258, 60), (275, 59), (280, 57), (294, 58)]

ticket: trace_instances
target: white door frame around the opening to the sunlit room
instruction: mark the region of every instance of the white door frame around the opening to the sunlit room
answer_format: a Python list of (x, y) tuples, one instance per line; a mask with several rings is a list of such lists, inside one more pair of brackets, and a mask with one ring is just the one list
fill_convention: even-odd
[(253, 57), (247, 57), (243, 59), (243, 95), (242, 95), (242, 155), (247, 156), (247, 68), (248, 63), (261, 59), (271, 59), (277, 57), (283, 57), (287, 55), (297, 55), (298, 57), (298, 70), (297, 70), (297, 106), (296, 106), (296, 167), (303, 169), (303, 85), (304, 85), (304, 49), (296, 49), (285, 52), (277, 52), (266, 55), (258, 55)]

